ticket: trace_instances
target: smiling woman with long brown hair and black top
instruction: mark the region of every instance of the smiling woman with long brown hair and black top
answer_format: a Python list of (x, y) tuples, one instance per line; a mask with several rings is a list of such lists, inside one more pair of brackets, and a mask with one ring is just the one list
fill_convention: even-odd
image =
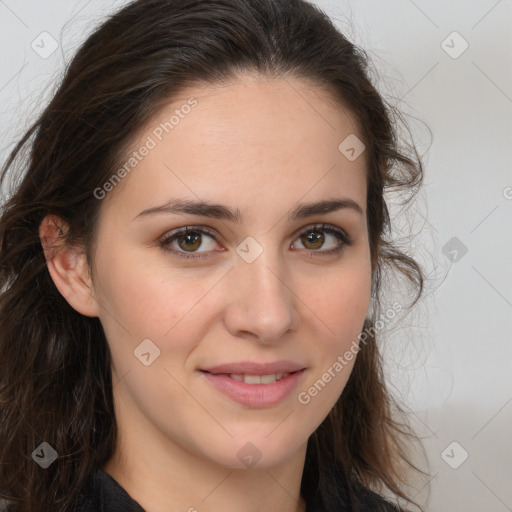
[(423, 283), (388, 238), (384, 191), (422, 178), (395, 120), (302, 0), (139, 0), (87, 39), (2, 174), (29, 146), (0, 220), (9, 510), (407, 502), (376, 346), (407, 307), (380, 310), (385, 267)]

